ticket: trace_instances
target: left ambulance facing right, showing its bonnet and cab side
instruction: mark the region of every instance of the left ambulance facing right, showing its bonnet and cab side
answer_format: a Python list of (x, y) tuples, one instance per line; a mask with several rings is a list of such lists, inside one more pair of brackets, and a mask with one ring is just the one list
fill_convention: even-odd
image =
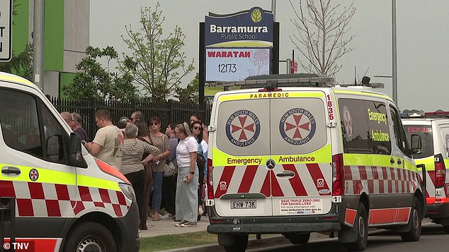
[(5, 251), (138, 251), (123, 174), (92, 157), (37, 86), (0, 73), (0, 245)]

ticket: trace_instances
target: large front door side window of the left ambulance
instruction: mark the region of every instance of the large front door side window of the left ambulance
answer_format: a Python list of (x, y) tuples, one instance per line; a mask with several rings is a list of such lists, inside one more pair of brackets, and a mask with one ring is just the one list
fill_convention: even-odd
[(35, 97), (14, 90), (0, 90), (0, 124), (8, 147), (42, 157)]

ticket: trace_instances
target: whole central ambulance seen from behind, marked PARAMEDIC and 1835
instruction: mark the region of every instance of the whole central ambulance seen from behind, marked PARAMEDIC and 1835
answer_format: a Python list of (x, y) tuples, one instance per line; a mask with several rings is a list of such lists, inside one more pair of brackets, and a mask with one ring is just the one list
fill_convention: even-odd
[(222, 84), (206, 205), (208, 232), (226, 251), (245, 251), (249, 234), (305, 244), (312, 232), (363, 251), (370, 227), (419, 240), (426, 192), (411, 153), (420, 139), (409, 147), (390, 97), (314, 74)]

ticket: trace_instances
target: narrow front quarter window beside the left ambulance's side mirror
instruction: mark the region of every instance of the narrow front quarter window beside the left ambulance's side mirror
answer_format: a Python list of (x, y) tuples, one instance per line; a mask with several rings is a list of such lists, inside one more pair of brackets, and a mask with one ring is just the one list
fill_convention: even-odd
[(64, 141), (68, 142), (67, 133), (44, 104), (41, 105), (41, 110), (47, 148), (45, 160), (64, 163)]

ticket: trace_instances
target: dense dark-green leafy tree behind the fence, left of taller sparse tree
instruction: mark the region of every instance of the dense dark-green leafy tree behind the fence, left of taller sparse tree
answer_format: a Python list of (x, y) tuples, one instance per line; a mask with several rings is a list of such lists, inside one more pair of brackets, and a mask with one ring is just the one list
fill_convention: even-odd
[[(130, 100), (137, 98), (137, 88), (132, 85), (129, 73), (111, 73), (110, 61), (118, 59), (113, 47), (100, 49), (87, 47), (87, 56), (76, 64), (76, 75), (70, 85), (62, 91), (67, 97), (76, 100)], [(97, 59), (106, 58), (106, 68)]]

